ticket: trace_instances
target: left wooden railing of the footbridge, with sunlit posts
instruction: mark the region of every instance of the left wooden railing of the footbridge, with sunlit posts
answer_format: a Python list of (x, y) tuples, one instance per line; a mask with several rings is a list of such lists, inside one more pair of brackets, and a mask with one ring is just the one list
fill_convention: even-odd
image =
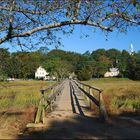
[[(40, 89), (41, 99), (39, 101), (38, 109), (35, 115), (35, 122), (29, 123), (27, 127), (38, 127), (37, 124), (46, 122), (45, 112), (46, 109), (50, 108), (52, 110), (52, 105), (59, 96), (63, 88), (63, 82), (54, 84), (47, 88)], [(39, 125), (40, 126), (40, 125)]]

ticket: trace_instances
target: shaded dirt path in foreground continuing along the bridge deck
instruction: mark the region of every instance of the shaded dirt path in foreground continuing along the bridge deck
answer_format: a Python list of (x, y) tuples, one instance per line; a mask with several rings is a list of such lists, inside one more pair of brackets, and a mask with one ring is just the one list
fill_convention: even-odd
[(140, 118), (136, 121), (113, 117), (101, 122), (89, 110), (75, 84), (65, 81), (55, 110), (47, 114), (46, 127), (30, 128), (17, 139), (134, 139), (140, 138)]

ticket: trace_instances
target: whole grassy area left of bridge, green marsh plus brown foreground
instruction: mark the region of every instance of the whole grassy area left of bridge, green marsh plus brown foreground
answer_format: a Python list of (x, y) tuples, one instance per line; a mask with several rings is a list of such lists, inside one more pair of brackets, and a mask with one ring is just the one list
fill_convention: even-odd
[(0, 82), (0, 137), (1, 134), (16, 137), (28, 123), (34, 122), (40, 89), (55, 83), (34, 80)]

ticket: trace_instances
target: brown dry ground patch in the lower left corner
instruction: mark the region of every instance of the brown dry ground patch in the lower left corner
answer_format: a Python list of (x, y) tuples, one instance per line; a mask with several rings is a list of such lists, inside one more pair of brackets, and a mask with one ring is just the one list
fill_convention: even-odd
[(0, 110), (0, 139), (16, 139), (32, 122), (35, 108)]

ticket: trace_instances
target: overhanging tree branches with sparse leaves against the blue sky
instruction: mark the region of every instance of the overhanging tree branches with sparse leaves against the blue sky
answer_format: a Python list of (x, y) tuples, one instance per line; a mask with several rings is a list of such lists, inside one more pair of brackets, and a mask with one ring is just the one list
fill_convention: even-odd
[[(140, 25), (139, 0), (1, 0), (0, 44), (19, 46), (47, 41), (61, 44), (56, 33), (71, 33), (74, 25), (103, 31), (126, 31)], [(37, 40), (38, 39), (38, 40)]]

